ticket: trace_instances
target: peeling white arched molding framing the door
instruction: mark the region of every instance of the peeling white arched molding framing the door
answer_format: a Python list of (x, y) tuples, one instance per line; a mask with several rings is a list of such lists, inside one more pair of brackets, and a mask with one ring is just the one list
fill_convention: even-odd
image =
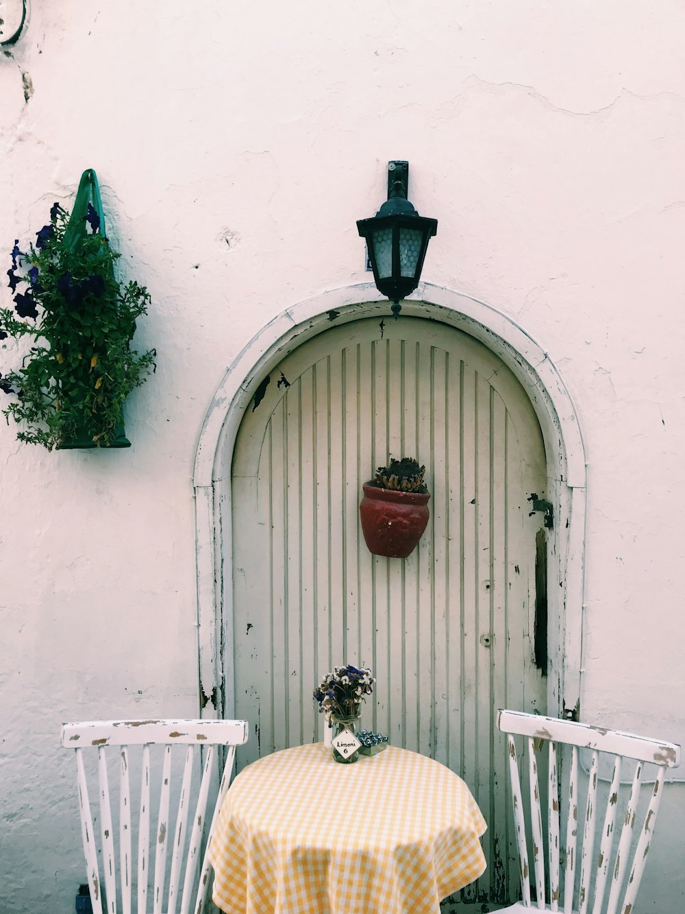
[[(573, 401), (546, 352), (519, 324), (490, 305), (421, 283), (402, 313), (461, 330), (500, 356), (521, 382), (540, 421), (553, 502), (548, 574), (548, 709), (577, 717), (585, 566), (585, 444)], [(195, 559), (201, 713), (232, 717), (233, 567), (231, 461), (244, 412), (265, 373), (297, 346), (365, 317), (392, 319), (371, 282), (323, 292), (262, 327), (228, 367), (205, 414), (195, 452)]]

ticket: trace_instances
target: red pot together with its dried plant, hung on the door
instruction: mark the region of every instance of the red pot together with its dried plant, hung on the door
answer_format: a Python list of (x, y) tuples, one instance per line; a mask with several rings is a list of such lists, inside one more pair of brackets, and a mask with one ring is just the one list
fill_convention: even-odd
[(407, 558), (426, 530), (430, 494), (426, 467), (413, 457), (390, 459), (364, 483), (359, 517), (366, 546), (374, 556)]

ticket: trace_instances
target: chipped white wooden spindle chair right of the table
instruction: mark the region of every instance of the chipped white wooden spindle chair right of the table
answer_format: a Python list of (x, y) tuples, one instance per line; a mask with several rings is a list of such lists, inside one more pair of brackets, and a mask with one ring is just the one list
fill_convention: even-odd
[[(527, 911), (534, 907), (544, 911), (564, 911), (564, 914), (630, 914), (634, 910), (654, 831), (663, 792), (664, 771), (680, 763), (680, 746), (519, 711), (500, 711), (497, 723), (507, 735), (511, 802), (523, 896), (522, 902), (504, 910)], [(515, 735), (524, 738), (521, 753), (517, 750)], [(609, 756), (609, 767), (607, 777), (603, 779), (605, 753)], [(585, 775), (588, 786), (584, 807), (579, 786), (580, 781), (585, 780), (586, 755), (589, 762)], [(527, 791), (525, 786), (522, 791), (519, 777), (522, 756), (528, 760), (527, 765), (522, 764), (522, 768), (528, 769)], [(623, 760), (635, 760), (635, 771), (628, 772), (628, 781), (624, 781), (624, 789), (621, 790)], [(645, 782), (641, 791), (645, 762), (658, 768), (656, 781)], [(632, 768), (633, 762), (628, 765)], [(538, 781), (538, 769), (545, 767), (546, 805), (544, 800), (541, 802), (541, 783)], [(632, 786), (629, 786), (631, 774)], [(606, 781), (605, 787), (602, 787), (603, 780)], [(527, 805), (530, 807), (530, 818), (524, 811), (523, 792), (529, 794)], [(600, 794), (604, 792), (606, 811), (602, 817)], [(640, 793), (647, 794), (642, 802)], [(564, 797), (567, 798), (565, 803)], [(546, 824), (543, 827), (544, 820)], [(617, 824), (621, 827), (614, 851), (614, 827)], [(578, 867), (576, 844), (581, 828), (583, 840)], [(595, 841), (595, 832), (598, 842)], [(598, 849), (595, 848), (597, 843)], [(528, 845), (532, 848), (531, 856)], [(536, 900), (533, 902), (531, 883), (535, 889)], [(603, 907), (605, 903), (606, 908)]]

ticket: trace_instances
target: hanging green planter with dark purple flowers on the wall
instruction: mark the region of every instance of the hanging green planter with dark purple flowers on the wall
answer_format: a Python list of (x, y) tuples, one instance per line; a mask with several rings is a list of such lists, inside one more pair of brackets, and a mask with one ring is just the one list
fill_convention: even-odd
[(154, 364), (154, 350), (138, 353), (131, 340), (150, 296), (116, 279), (120, 255), (105, 235), (92, 169), (71, 215), (56, 203), (35, 245), (24, 252), (17, 239), (11, 256), (15, 307), (0, 310), (0, 339), (33, 338), (21, 367), (0, 373), (0, 389), (16, 394), (3, 412), (20, 425), (17, 439), (48, 451), (130, 447), (124, 400)]

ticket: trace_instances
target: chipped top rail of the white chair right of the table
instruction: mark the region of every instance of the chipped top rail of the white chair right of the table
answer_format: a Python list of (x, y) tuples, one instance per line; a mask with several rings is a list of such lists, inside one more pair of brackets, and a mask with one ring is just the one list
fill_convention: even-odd
[(612, 752), (627, 759), (652, 762), (663, 768), (675, 768), (680, 765), (680, 746), (677, 743), (638, 737), (619, 730), (576, 723), (574, 720), (500, 710), (497, 726), (503, 733), (519, 734), (533, 739), (552, 739), (580, 748)]

